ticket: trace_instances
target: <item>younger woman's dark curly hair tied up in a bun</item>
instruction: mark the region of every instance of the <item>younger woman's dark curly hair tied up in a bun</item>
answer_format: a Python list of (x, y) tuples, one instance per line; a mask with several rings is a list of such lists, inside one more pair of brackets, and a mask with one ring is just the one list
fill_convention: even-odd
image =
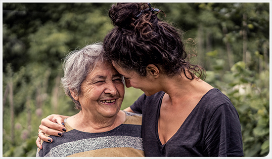
[(147, 8), (146, 3), (112, 5), (109, 17), (115, 27), (104, 39), (106, 58), (142, 76), (146, 76), (148, 64), (156, 65), (168, 76), (182, 72), (188, 79), (194, 79), (197, 73), (202, 76), (204, 69), (187, 60), (182, 31), (161, 21)]

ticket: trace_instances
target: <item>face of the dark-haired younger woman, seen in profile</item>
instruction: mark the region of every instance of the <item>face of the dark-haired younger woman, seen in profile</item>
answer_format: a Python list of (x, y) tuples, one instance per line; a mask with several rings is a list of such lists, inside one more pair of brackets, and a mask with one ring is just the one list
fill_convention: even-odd
[(116, 65), (114, 62), (113, 66), (121, 75), (124, 76), (125, 86), (127, 88), (133, 87), (141, 89), (143, 92), (145, 92), (147, 96), (151, 96), (158, 92), (156, 91), (156, 88), (154, 88), (155, 85), (153, 82), (151, 82), (149, 76), (143, 77), (135, 71), (125, 70), (124, 68), (121, 68), (120, 66)]

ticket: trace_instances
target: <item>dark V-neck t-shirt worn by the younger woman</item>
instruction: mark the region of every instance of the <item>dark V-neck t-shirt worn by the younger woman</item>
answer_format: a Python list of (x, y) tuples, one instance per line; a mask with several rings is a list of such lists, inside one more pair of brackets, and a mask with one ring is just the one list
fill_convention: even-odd
[[(144, 150), (151, 156), (243, 156), (239, 115), (230, 99), (218, 89), (207, 92), (183, 125), (165, 144), (158, 135), (162, 97), (143, 94), (130, 108), (143, 114)], [(178, 120), (178, 119), (177, 119)]]

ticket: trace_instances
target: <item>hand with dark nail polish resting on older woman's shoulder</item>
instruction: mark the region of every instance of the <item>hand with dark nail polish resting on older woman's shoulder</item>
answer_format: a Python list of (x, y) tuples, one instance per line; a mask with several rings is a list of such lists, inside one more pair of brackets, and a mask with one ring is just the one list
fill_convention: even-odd
[[(41, 120), (41, 125), (39, 126), (38, 132), (42, 131), (44, 134), (53, 135), (53, 136), (62, 136), (62, 132), (66, 132), (66, 128), (64, 127), (64, 119), (69, 116), (52, 114), (43, 118)], [(40, 140), (46, 142), (52, 142), (53, 139), (47, 137), (43, 133), (38, 134), (38, 138), (36, 140), (36, 145), (39, 149), (42, 149)]]

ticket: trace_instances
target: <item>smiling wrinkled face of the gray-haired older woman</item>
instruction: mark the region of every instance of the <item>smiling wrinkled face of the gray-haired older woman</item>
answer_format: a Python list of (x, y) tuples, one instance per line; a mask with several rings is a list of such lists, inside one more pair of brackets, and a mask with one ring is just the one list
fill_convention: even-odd
[[(81, 84), (78, 96), (82, 111), (95, 117), (116, 115), (124, 98), (124, 84), (121, 75), (109, 64), (99, 62)], [(98, 116), (97, 116), (98, 115)]]

